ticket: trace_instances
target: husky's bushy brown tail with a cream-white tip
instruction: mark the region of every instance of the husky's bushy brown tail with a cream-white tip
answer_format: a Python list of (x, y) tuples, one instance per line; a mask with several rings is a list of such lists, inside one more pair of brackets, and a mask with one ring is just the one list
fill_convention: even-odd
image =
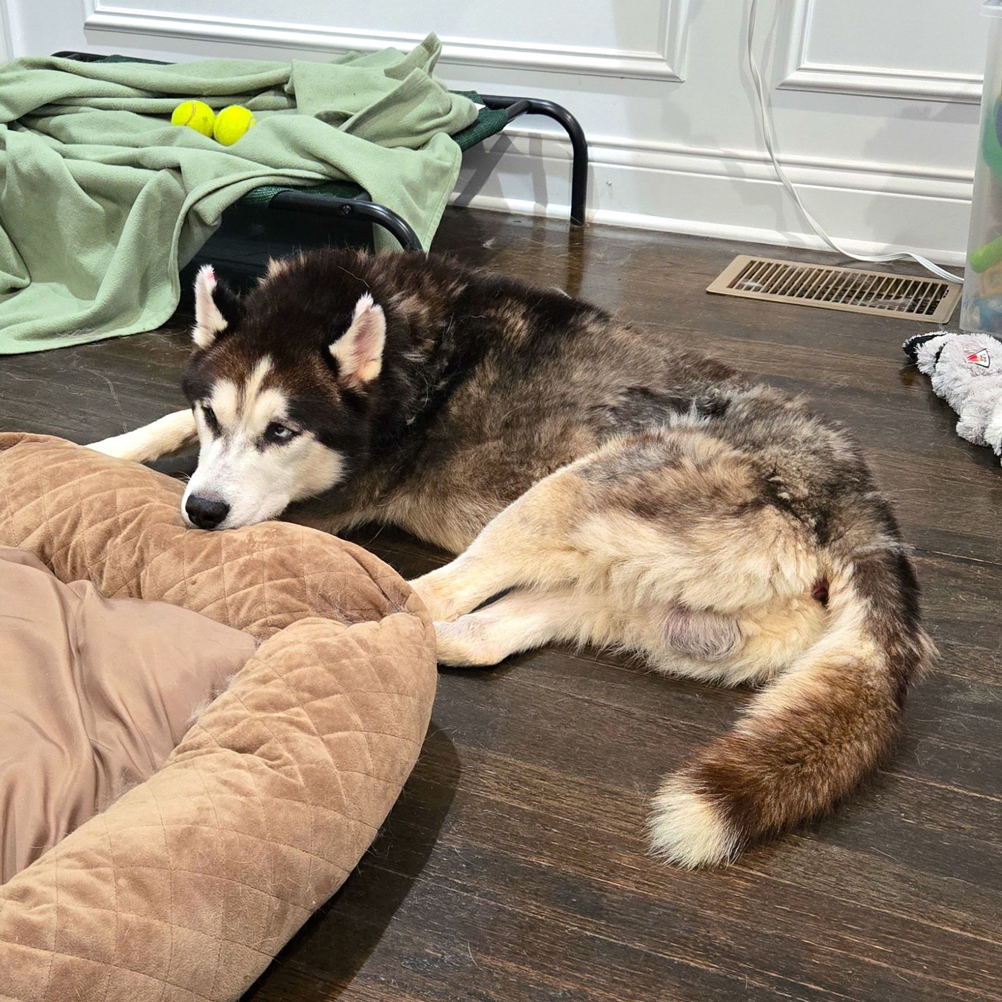
[(665, 782), (655, 853), (686, 867), (726, 862), (830, 810), (888, 750), (909, 680), (935, 648), (900, 545), (861, 549), (830, 579), (824, 635)]

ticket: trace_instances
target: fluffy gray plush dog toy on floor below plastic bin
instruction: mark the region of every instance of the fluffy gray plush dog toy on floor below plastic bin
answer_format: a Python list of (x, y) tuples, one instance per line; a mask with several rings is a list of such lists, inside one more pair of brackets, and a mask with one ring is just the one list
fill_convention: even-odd
[(902, 346), (933, 390), (960, 416), (957, 434), (1002, 458), (1002, 341), (988, 334), (934, 331)]

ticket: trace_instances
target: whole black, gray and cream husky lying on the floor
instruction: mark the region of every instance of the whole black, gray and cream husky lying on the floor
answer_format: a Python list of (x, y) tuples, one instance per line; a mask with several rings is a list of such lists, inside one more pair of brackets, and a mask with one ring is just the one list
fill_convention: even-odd
[(569, 641), (763, 685), (654, 800), (668, 860), (828, 811), (888, 749), (934, 648), (860, 450), (802, 400), (434, 255), (307, 254), (243, 297), (202, 269), (192, 335), (191, 409), (92, 447), (197, 440), (191, 525), (288, 509), (460, 554), (412, 582), (445, 664)]

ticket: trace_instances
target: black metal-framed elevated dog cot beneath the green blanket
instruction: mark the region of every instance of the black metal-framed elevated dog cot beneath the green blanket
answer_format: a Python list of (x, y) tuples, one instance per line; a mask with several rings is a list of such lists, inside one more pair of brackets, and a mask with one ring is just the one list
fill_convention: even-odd
[[(123, 55), (98, 55), (93, 52), (65, 51), (56, 52), (55, 55), (81, 62), (162, 62)], [(544, 115), (563, 126), (573, 152), (570, 221), (572, 225), (583, 225), (588, 189), (588, 143), (578, 120), (561, 105), (536, 97), (505, 97), (471, 90), (456, 93), (469, 97), (481, 106), (476, 121), (452, 137), (463, 152), (480, 145), (490, 136), (497, 135), (509, 122), (522, 115)], [(270, 249), (273, 257), (283, 257), (298, 246), (310, 245), (312, 242), (371, 244), (374, 225), (382, 226), (390, 232), (405, 250), (422, 249), (417, 234), (406, 219), (386, 205), (374, 202), (368, 191), (351, 181), (330, 181), (305, 187), (268, 184), (255, 188), (224, 213), (224, 224), (220, 229), (228, 232), (220, 232), (212, 237), (213, 241), (219, 237), (213, 250), (216, 263), (221, 254), (223, 259), (231, 260), (236, 271), (245, 272), (248, 277), (250, 273), (257, 273), (256, 262), (246, 260), (245, 249), (241, 250), (241, 247), (245, 248), (247, 241), (264, 236), (263, 209), (292, 212), (299, 216), (295, 221), (278, 221), (271, 234), (272, 243), (275, 244)], [(311, 220), (312, 225), (304, 227), (304, 215)], [(333, 222), (338, 222), (341, 230), (341, 238), (337, 240), (331, 239)], [(295, 242), (290, 244), (290, 240)]]

